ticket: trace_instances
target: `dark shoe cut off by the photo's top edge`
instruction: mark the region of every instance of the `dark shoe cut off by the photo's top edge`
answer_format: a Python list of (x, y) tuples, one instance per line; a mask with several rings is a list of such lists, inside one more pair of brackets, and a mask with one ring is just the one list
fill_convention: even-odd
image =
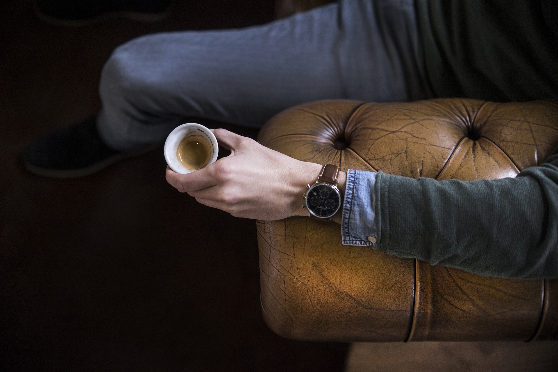
[(36, 0), (35, 12), (59, 26), (86, 26), (106, 18), (156, 22), (169, 15), (173, 0)]

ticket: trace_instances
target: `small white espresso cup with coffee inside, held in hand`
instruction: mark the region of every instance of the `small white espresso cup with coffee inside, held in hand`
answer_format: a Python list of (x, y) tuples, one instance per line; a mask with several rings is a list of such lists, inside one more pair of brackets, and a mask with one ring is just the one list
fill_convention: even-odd
[(182, 175), (215, 162), (218, 152), (217, 138), (201, 124), (179, 125), (165, 141), (165, 160)]

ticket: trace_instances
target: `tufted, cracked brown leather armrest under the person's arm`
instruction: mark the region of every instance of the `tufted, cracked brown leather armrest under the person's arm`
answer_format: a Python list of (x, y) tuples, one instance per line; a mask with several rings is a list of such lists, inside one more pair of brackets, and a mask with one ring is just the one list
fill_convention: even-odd
[[(259, 142), (302, 161), (407, 177), (501, 178), (558, 146), (558, 101), (330, 100), (273, 117)], [(558, 280), (502, 279), (341, 244), (340, 226), (257, 221), (264, 319), (314, 341), (558, 339)]]

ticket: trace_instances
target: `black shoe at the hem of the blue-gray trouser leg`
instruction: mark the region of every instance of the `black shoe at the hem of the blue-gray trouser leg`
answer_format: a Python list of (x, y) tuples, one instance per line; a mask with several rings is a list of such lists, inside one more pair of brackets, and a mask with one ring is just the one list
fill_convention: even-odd
[(81, 177), (153, 148), (131, 152), (113, 150), (99, 136), (96, 122), (96, 118), (91, 118), (37, 138), (23, 154), (25, 167), (39, 176)]

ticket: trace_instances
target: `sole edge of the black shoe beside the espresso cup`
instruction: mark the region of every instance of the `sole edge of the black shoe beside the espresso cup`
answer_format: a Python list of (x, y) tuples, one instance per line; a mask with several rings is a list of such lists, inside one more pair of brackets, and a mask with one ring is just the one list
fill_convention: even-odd
[(31, 173), (42, 176), (42, 177), (49, 177), (49, 178), (78, 178), (78, 177), (85, 177), (92, 175), (93, 173), (97, 173), (104, 168), (107, 168), (114, 163), (122, 161), (127, 158), (131, 158), (134, 156), (140, 156), (141, 154), (145, 154), (147, 152), (153, 151), (155, 148), (160, 146), (160, 143), (154, 143), (150, 146), (144, 147), (142, 149), (130, 152), (122, 152), (106, 158), (103, 161), (95, 163), (94, 165), (86, 168), (79, 168), (75, 170), (53, 170), (47, 168), (40, 168), (35, 165), (32, 165), (25, 159), (25, 155), (23, 156), (23, 166), (30, 171)]

